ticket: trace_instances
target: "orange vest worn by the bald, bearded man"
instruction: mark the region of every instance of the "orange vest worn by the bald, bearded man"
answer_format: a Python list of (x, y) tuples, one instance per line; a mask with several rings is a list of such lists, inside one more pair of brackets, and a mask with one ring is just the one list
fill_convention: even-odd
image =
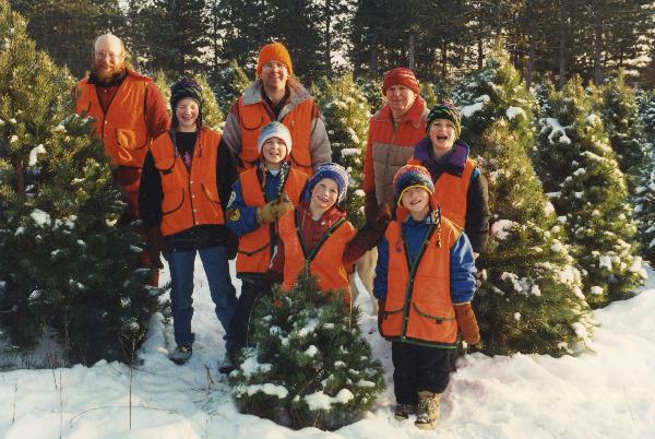
[(143, 167), (146, 146), (151, 141), (145, 121), (145, 96), (148, 86), (154, 86), (150, 78), (128, 70), (126, 79), (107, 108), (107, 114), (103, 111), (96, 86), (88, 83), (88, 78), (75, 86), (75, 112), (95, 118), (96, 133), (105, 145), (105, 153), (116, 166)]

